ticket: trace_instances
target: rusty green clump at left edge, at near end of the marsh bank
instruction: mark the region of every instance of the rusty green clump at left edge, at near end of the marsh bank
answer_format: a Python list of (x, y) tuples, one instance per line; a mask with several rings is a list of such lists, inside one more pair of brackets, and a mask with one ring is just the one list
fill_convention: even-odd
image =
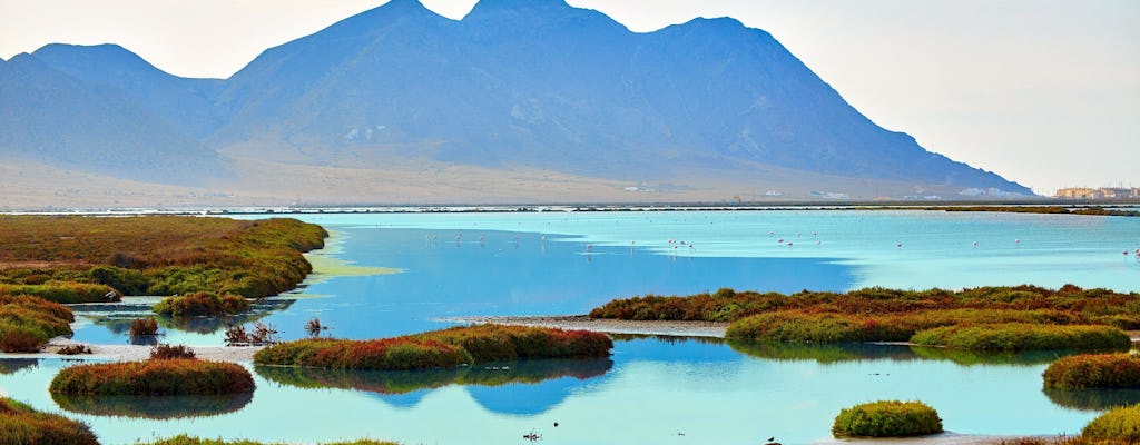
[(58, 336), (71, 336), (71, 310), (32, 296), (0, 295), (0, 351), (34, 353)]

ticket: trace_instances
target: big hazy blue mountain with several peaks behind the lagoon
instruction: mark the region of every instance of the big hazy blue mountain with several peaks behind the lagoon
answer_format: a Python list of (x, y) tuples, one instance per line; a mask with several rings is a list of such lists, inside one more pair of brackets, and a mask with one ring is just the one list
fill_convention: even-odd
[[(96, 108), (108, 142), (132, 141), (117, 149), (202, 157), (178, 164), (234, 171), (212, 184), (237, 191), (388, 203), (1032, 196), (876, 125), (772, 35), (731, 18), (634, 33), (563, 0), (481, 0), (462, 20), (392, 0), (227, 80), (172, 76), (111, 44), (21, 58), (38, 72), (0, 74), (0, 100), (34, 113), (17, 113), (31, 115), (18, 123), (27, 134), (0, 133), (7, 150), (67, 159), (79, 134), (46, 129), (70, 107)], [(28, 85), (58, 100), (22, 98)], [(95, 124), (74, 118), (68, 129)], [(73, 164), (103, 150), (115, 153), (92, 146)]]

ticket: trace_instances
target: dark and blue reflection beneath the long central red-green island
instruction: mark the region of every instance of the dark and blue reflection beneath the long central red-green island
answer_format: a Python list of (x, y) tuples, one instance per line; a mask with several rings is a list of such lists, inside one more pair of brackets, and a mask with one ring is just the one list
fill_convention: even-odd
[(534, 414), (564, 401), (583, 381), (604, 376), (609, 359), (527, 360), (447, 370), (351, 371), (318, 368), (254, 366), (269, 381), (300, 388), (355, 389), (380, 395), (390, 405), (412, 409), (431, 389), (464, 386), (486, 409)]

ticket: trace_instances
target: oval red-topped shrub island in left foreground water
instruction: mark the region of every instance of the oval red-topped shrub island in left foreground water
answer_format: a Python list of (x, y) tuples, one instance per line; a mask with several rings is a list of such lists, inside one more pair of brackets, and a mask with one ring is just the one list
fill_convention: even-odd
[(219, 395), (253, 390), (253, 376), (234, 363), (187, 359), (93, 363), (65, 368), (51, 380), (64, 395)]

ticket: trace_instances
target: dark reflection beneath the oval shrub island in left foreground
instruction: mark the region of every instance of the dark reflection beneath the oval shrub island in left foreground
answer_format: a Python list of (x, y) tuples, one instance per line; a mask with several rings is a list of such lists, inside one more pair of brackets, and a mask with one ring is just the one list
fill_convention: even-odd
[(236, 412), (253, 393), (215, 396), (68, 396), (52, 394), (60, 409), (73, 413), (137, 419), (185, 419)]

